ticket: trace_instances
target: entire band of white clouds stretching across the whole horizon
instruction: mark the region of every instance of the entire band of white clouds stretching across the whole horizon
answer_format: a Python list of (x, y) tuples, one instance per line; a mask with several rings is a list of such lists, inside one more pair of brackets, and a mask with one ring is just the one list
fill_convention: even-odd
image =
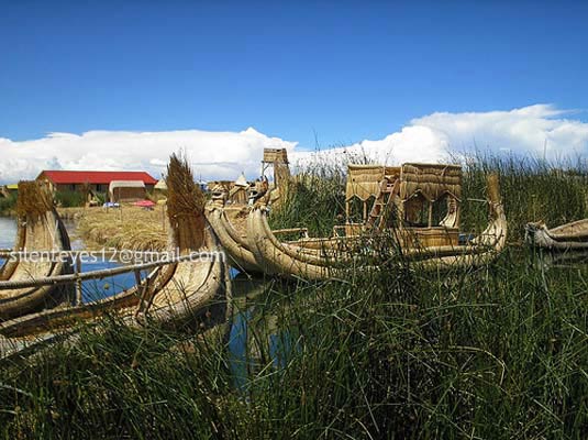
[[(588, 123), (577, 112), (536, 105), (507, 111), (435, 112), (413, 119), (381, 140), (308, 152), (297, 142), (270, 138), (249, 128), (241, 132), (201, 130), (168, 132), (90, 131), (51, 133), (14, 142), (0, 138), (0, 183), (34, 178), (42, 169), (145, 169), (155, 177), (169, 155), (186, 151), (197, 176), (234, 179), (259, 173), (264, 147), (287, 148), (293, 162), (314, 156), (367, 156), (386, 164), (442, 162), (451, 154), (509, 151), (548, 158), (586, 155)], [(344, 133), (342, 133), (344, 134)]]

